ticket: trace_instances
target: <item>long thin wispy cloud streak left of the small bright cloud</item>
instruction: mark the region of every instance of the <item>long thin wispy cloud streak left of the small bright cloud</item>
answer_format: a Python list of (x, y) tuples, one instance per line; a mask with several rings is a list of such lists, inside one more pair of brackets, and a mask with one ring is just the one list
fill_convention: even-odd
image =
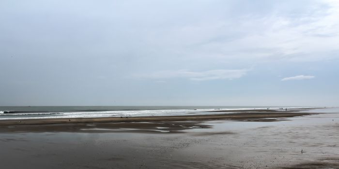
[(217, 79), (237, 79), (246, 75), (247, 70), (207, 70), (207, 71), (189, 71), (189, 70), (167, 70), (149, 74), (139, 74), (137, 77), (150, 79), (169, 79), (186, 78), (192, 81), (206, 81)]

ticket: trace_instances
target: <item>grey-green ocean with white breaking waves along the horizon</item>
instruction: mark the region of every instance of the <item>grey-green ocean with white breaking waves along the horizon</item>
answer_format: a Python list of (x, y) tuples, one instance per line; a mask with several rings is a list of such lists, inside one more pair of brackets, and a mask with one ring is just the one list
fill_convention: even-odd
[[(0, 106), (0, 120), (193, 115), (220, 110), (267, 108), (265, 106)], [(279, 107), (270, 109), (279, 109)]]

